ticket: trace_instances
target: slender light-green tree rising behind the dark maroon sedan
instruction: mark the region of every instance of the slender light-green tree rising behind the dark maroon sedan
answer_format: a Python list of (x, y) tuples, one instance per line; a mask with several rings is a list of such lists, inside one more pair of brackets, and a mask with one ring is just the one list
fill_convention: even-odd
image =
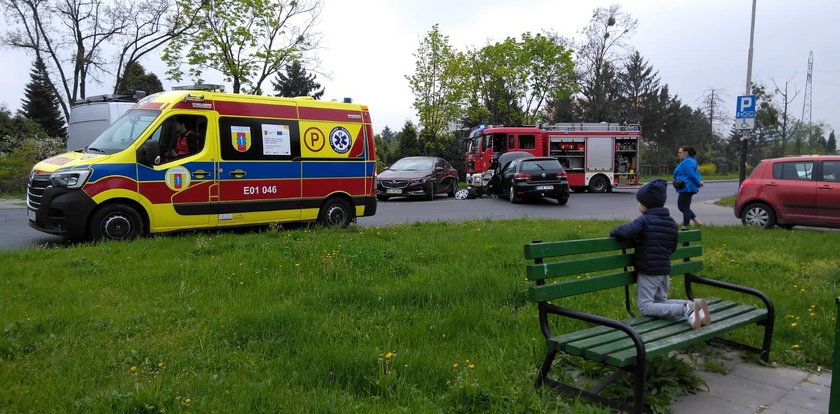
[(463, 111), (464, 57), (449, 44), (449, 37), (440, 33), (438, 25), (420, 41), (414, 57), (414, 74), (406, 79), (422, 126), (421, 140), (428, 147), (440, 148), (452, 139), (448, 131)]

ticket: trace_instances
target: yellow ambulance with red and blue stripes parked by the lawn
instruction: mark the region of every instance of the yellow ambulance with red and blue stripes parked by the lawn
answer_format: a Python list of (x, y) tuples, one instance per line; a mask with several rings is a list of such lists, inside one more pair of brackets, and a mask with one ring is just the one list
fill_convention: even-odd
[(365, 105), (161, 92), (84, 149), (36, 164), (29, 224), (110, 240), (283, 222), (345, 227), (376, 213), (375, 154)]

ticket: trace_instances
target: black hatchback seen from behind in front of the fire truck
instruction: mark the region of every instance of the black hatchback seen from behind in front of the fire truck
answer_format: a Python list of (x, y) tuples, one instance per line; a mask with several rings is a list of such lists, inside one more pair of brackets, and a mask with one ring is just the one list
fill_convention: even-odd
[(565, 205), (569, 201), (566, 170), (556, 158), (519, 158), (501, 167), (501, 182), (496, 192), (507, 195), (511, 203), (526, 198), (550, 197)]

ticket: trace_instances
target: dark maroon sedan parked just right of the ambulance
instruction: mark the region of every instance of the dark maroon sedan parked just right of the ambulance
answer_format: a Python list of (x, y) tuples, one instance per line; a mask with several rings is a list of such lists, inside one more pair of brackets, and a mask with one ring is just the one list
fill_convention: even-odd
[(435, 194), (455, 197), (458, 170), (438, 157), (401, 158), (376, 176), (376, 198), (393, 196), (423, 197), (434, 200)]

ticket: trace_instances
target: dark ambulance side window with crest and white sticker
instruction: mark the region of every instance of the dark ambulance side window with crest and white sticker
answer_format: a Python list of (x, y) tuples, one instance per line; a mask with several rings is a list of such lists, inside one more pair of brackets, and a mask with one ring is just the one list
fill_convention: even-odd
[(219, 148), (223, 160), (292, 160), (300, 157), (298, 122), (221, 117)]

